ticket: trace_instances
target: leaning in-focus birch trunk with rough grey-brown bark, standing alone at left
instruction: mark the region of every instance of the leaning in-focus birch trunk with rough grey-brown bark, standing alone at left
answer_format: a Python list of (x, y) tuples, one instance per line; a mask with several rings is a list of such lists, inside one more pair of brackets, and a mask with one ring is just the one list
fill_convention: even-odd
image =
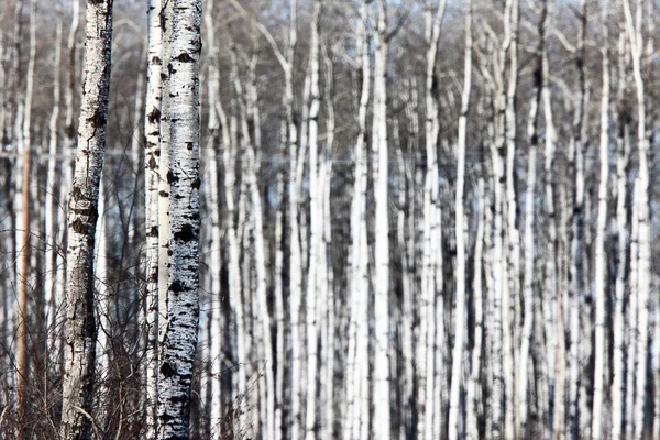
[[(96, 339), (94, 248), (106, 151), (112, 42), (112, 1), (87, 8), (85, 81), (76, 172), (68, 210), (66, 349), (61, 437), (90, 436)], [(85, 415), (87, 413), (87, 415)]]

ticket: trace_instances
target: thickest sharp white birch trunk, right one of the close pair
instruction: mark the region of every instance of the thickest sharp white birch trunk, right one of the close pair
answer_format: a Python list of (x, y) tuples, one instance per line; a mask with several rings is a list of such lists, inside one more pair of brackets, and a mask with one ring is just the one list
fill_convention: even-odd
[(199, 54), (201, 1), (175, 1), (168, 57), (172, 156), (167, 327), (158, 375), (158, 438), (189, 437), (199, 319)]

